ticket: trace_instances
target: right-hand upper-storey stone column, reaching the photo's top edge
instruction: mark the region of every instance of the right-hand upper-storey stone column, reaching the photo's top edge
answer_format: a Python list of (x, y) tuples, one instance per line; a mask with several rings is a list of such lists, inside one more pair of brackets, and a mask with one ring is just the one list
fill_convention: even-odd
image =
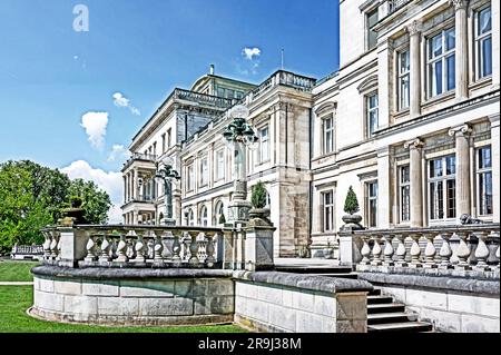
[(450, 0), (455, 8), (455, 98), (468, 99), (468, 3)]

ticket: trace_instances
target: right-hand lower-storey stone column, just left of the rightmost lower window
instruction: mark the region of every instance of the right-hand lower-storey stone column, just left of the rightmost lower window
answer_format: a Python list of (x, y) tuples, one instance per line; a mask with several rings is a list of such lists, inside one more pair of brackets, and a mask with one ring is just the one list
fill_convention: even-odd
[(461, 215), (471, 216), (470, 186), (470, 134), (468, 125), (449, 130), (449, 136), (455, 137), (455, 217), (460, 224)]

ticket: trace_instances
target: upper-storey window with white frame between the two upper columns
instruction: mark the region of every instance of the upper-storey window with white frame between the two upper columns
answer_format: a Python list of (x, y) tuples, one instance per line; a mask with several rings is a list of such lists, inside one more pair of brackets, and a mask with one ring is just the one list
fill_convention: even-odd
[(451, 28), (428, 40), (428, 96), (455, 89), (455, 29)]

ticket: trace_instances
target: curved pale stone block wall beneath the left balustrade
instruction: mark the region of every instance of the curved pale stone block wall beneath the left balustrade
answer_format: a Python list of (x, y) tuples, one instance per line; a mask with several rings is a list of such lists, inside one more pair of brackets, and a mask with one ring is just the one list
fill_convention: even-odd
[(232, 272), (71, 269), (40, 266), (29, 313), (47, 321), (101, 325), (232, 323)]

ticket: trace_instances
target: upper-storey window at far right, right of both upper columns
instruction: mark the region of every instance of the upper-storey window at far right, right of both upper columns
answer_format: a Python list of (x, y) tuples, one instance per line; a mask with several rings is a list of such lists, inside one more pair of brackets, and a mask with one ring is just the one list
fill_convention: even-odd
[(477, 12), (475, 16), (475, 55), (477, 76), (482, 79), (492, 75), (492, 16), (491, 8)]

